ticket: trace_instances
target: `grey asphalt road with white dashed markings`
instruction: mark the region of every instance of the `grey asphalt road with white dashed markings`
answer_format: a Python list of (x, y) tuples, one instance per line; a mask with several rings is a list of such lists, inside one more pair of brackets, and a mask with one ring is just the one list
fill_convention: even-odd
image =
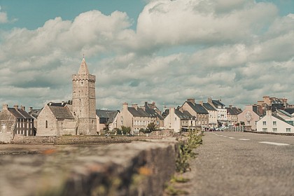
[(294, 137), (205, 132), (190, 162), (190, 195), (294, 195)]

